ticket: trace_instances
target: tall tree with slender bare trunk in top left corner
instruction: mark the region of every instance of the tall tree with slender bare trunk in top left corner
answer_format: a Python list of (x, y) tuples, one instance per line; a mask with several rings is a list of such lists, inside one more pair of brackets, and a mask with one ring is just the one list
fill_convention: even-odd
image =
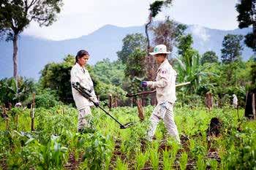
[(0, 34), (13, 43), (13, 77), (18, 82), (18, 35), (32, 20), (50, 26), (61, 11), (62, 0), (1, 0)]

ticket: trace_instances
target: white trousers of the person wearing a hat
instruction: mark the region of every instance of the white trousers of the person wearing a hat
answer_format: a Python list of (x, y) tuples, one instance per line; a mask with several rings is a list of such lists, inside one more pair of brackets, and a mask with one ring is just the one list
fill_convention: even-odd
[(170, 102), (157, 104), (157, 107), (154, 108), (154, 111), (150, 117), (151, 125), (148, 131), (147, 139), (152, 141), (152, 138), (157, 129), (157, 124), (160, 120), (164, 120), (165, 128), (167, 128), (170, 136), (173, 136), (174, 139), (180, 143), (180, 139), (178, 137), (178, 129), (174, 122), (173, 104)]

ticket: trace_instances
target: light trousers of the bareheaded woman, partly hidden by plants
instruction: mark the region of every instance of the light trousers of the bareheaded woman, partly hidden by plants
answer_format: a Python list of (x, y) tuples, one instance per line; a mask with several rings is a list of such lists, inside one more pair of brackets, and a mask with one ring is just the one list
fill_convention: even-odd
[(78, 130), (90, 127), (91, 125), (91, 108), (88, 106), (78, 111)]

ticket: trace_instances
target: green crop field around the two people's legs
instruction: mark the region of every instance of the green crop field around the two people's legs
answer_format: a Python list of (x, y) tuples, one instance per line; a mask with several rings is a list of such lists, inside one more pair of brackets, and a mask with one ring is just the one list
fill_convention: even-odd
[[(1, 169), (256, 169), (256, 123), (243, 109), (176, 106), (178, 145), (163, 123), (153, 142), (145, 140), (153, 108), (144, 108), (143, 122), (136, 107), (112, 109), (121, 123), (136, 122), (127, 129), (94, 108), (92, 134), (77, 133), (72, 107), (37, 108), (33, 132), (30, 110), (12, 109), (8, 120), (0, 119)], [(206, 134), (212, 117), (221, 121), (219, 136)]]

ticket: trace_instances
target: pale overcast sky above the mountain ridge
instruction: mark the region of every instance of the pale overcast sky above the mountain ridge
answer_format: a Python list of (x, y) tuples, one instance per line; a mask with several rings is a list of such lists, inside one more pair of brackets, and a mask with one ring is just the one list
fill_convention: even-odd
[[(152, 0), (64, 0), (58, 20), (52, 26), (40, 28), (31, 23), (23, 34), (44, 39), (72, 39), (90, 34), (98, 28), (114, 26), (142, 26), (147, 21)], [(165, 15), (185, 24), (232, 30), (236, 21), (238, 0), (173, 0), (173, 5), (156, 18)]]

